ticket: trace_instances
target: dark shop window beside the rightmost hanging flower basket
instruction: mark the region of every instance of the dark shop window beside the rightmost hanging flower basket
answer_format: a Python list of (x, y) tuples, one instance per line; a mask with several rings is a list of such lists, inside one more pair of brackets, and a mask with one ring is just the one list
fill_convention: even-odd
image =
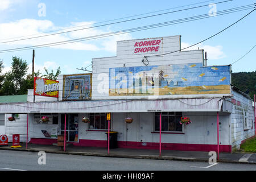
[[(162, 131), (182, 132), (183, 127), (180, 125), (182, 112), (163, 112), (162, 114)], [(160, 113), (155, 113), (155, 131), (159, 131)]]

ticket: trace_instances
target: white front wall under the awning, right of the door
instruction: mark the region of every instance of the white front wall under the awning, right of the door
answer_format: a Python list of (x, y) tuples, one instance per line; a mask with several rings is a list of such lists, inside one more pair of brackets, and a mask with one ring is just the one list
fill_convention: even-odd
[[(163, 143), (217, 144), (216, 112), (183, 112), (183, 115), (191, 118), (192, 123), (184, 127), (184, 134), (162, 134)], [(125, 123), (127, 116), (134, 119), (133, 123)], [(220, 113), (219, 117), (220, 144), (230, 145), (229, 114)], [(106, 140), (105, 132), (86, 131), (88, 124), (79, 124), (80, 139)], [(154, 131), (154, 113), (112, 113), (111, 127), (118, 132), (118, 141), (159, 143), (159, 133), (151, 133)]]

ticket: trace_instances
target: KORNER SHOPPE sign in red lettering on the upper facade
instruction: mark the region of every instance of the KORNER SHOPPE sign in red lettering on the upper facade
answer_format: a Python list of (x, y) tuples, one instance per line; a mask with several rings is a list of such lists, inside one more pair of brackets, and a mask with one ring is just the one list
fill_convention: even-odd
[(143, 40), (134, 43), (134, 54), (161, 52), (162, 39)]

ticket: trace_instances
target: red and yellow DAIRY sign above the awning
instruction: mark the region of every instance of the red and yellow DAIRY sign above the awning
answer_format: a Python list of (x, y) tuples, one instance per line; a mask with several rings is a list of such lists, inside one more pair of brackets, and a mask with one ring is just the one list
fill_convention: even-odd
[(59, 97), (59, 81), (34, 77), (34, 96)]

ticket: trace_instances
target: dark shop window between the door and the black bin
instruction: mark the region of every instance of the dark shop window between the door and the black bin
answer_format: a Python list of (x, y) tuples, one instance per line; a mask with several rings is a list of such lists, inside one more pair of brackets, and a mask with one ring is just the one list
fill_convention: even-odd
[(106, 113), (90, 113), (89, 118), (89, 130), (108, 130)]

